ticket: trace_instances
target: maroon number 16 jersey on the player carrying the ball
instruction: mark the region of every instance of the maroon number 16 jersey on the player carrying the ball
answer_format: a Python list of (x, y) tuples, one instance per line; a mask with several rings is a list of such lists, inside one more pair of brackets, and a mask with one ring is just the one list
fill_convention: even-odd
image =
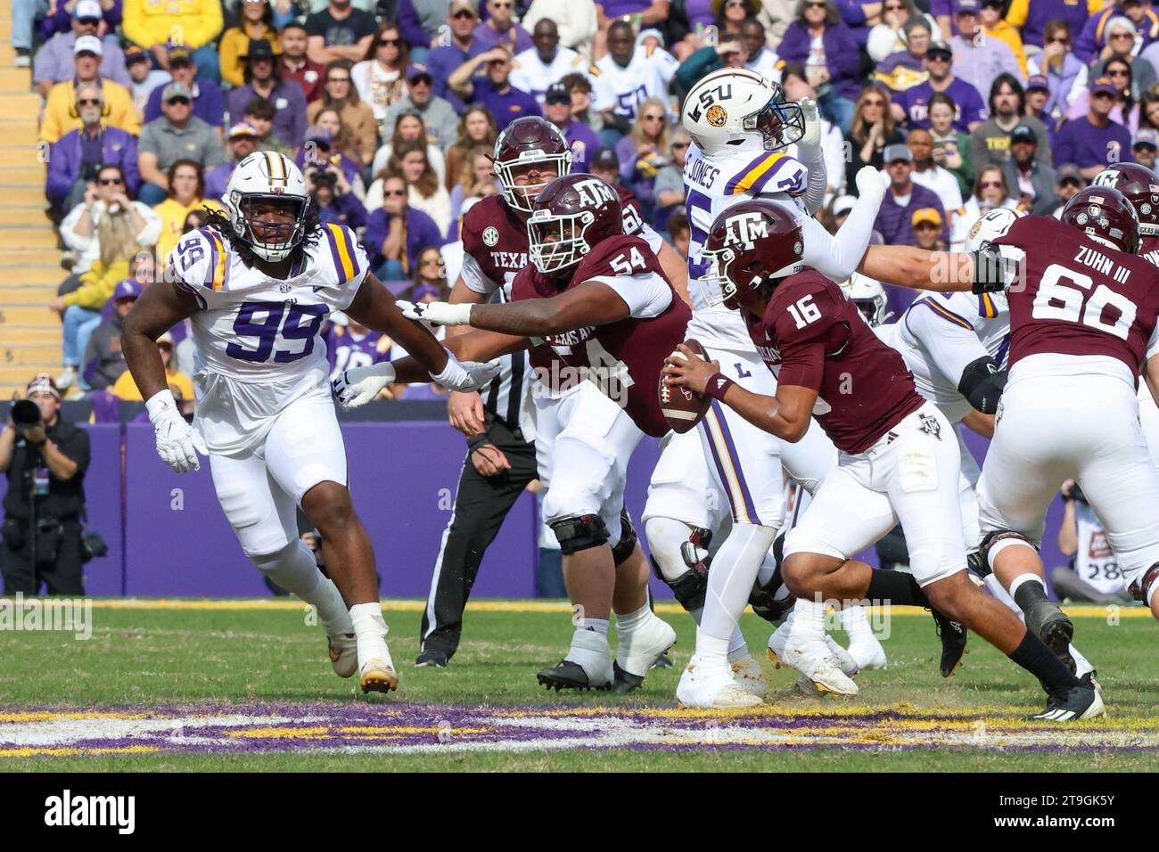
[(858, 306), (807, 269), (773, 291), (764, 316), (745, 313), (749, 336), (780, 385), (817, 391), (812, 414), (838, 446), (858, 453), (925, 400), (897, 350), (873, 333)]

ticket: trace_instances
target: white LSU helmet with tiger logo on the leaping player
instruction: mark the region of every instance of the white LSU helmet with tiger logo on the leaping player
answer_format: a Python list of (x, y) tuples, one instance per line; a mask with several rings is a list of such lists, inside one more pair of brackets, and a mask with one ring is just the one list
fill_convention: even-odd
[(699, 80), (684, 99), (681, 123), (707, 156), (778, 151), (804, 136), (801, 104), (748, 68), (721, 68)]

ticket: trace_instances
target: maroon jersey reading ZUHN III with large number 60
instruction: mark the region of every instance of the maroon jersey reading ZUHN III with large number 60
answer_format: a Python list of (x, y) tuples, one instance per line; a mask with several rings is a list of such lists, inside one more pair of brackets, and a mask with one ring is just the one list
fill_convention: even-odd
[(1159, 316), (1156, 267), (1048, 216), (1019, 219), (993, 243), (1025, 252), (1007, 290), (1012, 367), (1043, 352), (1105, 355), (1138, 376)]

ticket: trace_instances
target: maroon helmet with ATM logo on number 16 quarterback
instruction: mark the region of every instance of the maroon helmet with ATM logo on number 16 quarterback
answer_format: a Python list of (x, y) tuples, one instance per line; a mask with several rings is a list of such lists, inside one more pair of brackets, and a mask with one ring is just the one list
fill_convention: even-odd
[(788, 210), (766, 201), (741, 202), (717, 216), (702, 250), (715, 261), (722, 300), (804, 267), (801, 226)]

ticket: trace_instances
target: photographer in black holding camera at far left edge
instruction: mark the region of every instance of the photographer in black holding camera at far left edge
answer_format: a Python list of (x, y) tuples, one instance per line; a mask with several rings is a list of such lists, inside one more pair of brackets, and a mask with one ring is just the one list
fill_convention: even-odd
[(88, 432), (60, 420), (60, 392), (41, 373), (0, 431), (5, 594), (83, 595), (81, 514)]

